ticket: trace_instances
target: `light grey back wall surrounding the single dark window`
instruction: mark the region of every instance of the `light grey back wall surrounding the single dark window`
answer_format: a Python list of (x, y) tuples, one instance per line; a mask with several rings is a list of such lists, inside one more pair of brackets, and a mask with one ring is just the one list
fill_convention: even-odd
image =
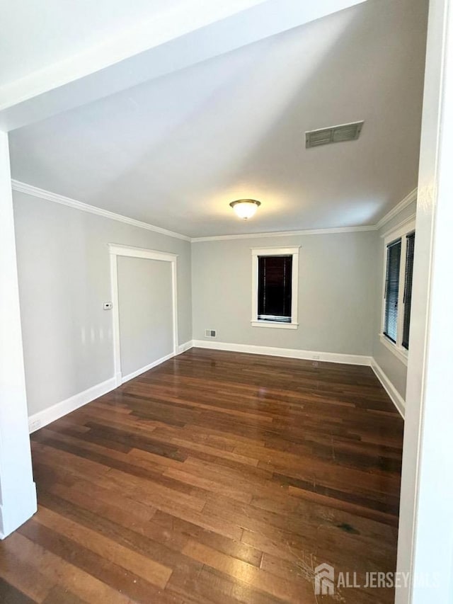
[[(251, 247), (301, 246), (299, 329), (251, 326)], [(376, 232), (200, 241), (192, 246), (193, 338), (371, 355)]]

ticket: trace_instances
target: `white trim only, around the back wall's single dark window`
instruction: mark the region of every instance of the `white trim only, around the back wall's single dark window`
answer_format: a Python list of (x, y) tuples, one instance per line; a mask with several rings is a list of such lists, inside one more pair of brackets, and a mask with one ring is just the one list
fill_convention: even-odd
[[(298, 294), (299, 294), (299, 248), (295, 247), (264, 247), (251, 248), (252, 251), (252, 327), (270, 327), (274, 329), (297, 329)], [(292, 256), (292, 291), (291, 291), (291, 323), (265, 321), (258, 319), (258, 256)]]

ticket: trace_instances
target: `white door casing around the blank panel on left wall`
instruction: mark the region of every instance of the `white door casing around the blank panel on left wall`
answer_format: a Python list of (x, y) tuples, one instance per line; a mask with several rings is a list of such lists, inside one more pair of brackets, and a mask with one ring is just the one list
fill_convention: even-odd
[(143, 249), (120, 244), (108, 244), (110, 253), (110, 284), (113, 304), (113, 363), (115, 367), (115, 383), (122, 384), (121, 372), (121, 341), (120, 341), (120, 308), (118, 305), (118, 256), (127, 258), (144, 258), (171, 263), (172, 307), (173, 307), (173, 353), (178, 353), (178, 254)]

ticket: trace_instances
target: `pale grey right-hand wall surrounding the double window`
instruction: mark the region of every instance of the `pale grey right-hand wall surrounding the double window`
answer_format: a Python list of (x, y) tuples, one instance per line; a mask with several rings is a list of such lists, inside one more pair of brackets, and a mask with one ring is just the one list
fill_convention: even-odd
[[(382, 371), (389, 378), (390, 382), (394, 385), (398, 393), (403, 399), (406, 399), (406, 377), (407, 377), (407, 365), (394, 355), (389, 348), (386, 348), (381, 342), (379, 335), (382, 331), (382, 297), (383, 291), (383, 275), (384, 275), (384, 237), (386, 233), (390, 233), (392, 230), (398, 227), (398, 224), (406, 220), (408, 217), (415, 216), (416, 203), (413, 202), (406, 206), (401, 212), (399, 212), (392, 220), (384, 224), (381, 229), (377, 232), (378, 243), (377, 243), (377, 300), (374, 307), (374, 326), (373, 326), (373, 351), (372, 355), (376, 363), (381, 367)], [(416, 241), (415, 241), (416, 245)]]

